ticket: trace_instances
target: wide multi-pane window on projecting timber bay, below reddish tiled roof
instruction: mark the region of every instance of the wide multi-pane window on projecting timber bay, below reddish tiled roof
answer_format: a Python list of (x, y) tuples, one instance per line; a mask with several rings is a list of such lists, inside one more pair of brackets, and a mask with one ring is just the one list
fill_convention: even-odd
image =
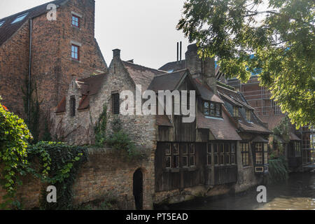
[(207, 148), (208, 165), (212, 165), (212, 148), (214, 153), (214, 165), (233, 165), (235, 161), (236, 145), (230, 143), (209, 144)]

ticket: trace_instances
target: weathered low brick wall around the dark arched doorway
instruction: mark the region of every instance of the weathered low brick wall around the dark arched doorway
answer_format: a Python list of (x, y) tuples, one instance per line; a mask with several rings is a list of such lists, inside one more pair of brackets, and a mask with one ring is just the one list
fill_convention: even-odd
[[(154, 193), (154, 153), (146, 151), (146, 159), (125, 162), (123, 156), (111, 149), (92, 148), (87, 162), (80, 168), (73, 185), (73, 204), (80, 205), (111, 196), (118, 201), (120, 209), (135, 209), (133, 195), (133, 175), (137, 169), (144, 174), (144, 209), (153, 209)], [(24, 209), (39, 207), (42, 184), (27, 176), (18, 189), (18, 199)], [(0, 203), (5, 192), (0, 190)]]

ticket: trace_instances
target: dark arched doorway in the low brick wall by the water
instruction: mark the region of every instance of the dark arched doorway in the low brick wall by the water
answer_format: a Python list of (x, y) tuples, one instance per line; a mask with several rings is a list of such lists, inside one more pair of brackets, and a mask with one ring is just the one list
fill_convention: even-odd
[(141, 169), (134, 172), (134, 200), (136, 209), (142, 210), (144, 204), (144, 174), (142, 174)]

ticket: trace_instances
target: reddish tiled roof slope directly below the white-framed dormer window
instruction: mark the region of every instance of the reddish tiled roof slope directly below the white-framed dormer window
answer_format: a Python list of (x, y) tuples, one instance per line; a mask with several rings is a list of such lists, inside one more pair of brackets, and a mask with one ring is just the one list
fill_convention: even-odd
[(237, 134), (237, 128), (232, 124), (225, 111), (223, 111), (222, 116), (223, 119), (207, 118), (201, 111), (198, 111), (197, 128), (209, 129), (216, 140), (241, 140)]

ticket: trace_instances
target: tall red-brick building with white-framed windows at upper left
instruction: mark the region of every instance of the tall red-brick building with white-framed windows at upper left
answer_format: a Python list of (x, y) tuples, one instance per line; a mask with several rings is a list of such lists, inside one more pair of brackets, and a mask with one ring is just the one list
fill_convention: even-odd
[[(48, 20), (55, 6), (56, 20)], [(71, 74), (106, 71), (94, 38), (94, 8), (94, 0), (57, 0), (0, 19), (0, 95), (10, 111), (27, 118), (29, 80), (46, 115), (65, 94)]]

